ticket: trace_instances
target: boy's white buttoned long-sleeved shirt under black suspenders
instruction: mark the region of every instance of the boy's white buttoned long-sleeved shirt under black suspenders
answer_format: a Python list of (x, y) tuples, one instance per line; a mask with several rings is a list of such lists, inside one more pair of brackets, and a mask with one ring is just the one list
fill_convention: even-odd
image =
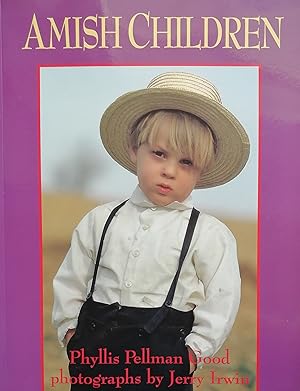
[[(119, 202), (90, 211), (73, 232), (71, 247), (54, 278), (53, 323), (63, 340), (76, 328), (91, 286), (105, 221)], [(178, 267), (192, 200), (153, 205), (139, 187), (117, 212), (105, 236), (93, 298), (124, 306), (159, 307)], [(177, 283), (172, 307), (194, 310), (186, 337), (197, 356), (215, 354), (228, 336), (240, 302), (236, 242), (216, 218), (200, 212)]]

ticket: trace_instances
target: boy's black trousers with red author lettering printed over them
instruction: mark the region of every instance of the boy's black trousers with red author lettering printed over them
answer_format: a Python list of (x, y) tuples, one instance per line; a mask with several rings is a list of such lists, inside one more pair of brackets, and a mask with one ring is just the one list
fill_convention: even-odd
[(193, 312), (167, 308), (149, 333), (145, 325), (158, 310), (88, 299), (67, 346), (71, 390), (192, 390), (185, 337)]

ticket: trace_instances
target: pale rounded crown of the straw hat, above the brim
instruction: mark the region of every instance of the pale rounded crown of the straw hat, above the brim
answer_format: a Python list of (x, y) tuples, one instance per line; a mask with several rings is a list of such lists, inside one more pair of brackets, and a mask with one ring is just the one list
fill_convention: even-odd
[(150, 81), (147, 88), (167, 88), (203, 95), (222, 103), (216, 87), (208, 80), (187, 72), (166, 72)]

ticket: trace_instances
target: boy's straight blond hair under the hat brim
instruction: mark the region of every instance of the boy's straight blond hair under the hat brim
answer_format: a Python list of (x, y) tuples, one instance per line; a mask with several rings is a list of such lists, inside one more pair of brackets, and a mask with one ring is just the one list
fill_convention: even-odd
[(216, 142), (206, 122), (180, 110), (157, 110), (146, 114), (129, 133), (129, 147), (154, 145), (161, 131), (168, 132), (169, 147), (192, 160), (201, 172), (214, 162)]

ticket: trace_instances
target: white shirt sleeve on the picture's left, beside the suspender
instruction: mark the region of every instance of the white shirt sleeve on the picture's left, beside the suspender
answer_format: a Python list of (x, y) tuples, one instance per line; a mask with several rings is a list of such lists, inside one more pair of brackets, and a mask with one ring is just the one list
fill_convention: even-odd
[(94, 216), (90, 212), (74, 230), (70, 249), (53, 280), (52, 322), (61, 345), (68, 329), (76, 328), (80, 308), (88, 293), (95, 258), (93, 230)]

